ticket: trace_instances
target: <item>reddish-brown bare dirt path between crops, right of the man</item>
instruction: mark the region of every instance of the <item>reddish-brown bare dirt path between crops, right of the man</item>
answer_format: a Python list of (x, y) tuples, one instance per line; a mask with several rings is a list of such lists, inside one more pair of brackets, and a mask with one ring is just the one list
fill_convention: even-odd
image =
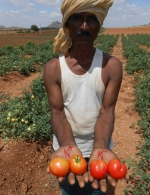
[[(126, 59), (122, 54), (123, 49), (120, 36), (112, 51), (112, 55), (119, 58), (123, 64), (123, 80), (115, 111), (116, 119), (113, 133), (113, 151), (119, 158), (128, 160), (132, 155), (137, 153), (136, 146), (138, 142), (141, 141), (140, 135), (136, 134), (136, 130), (138, 129), (136, 124), (140, 117), (134, 107), (134, 77), (126, 73)], [(115, 193), (110, 192), (107, 195), (124, 195), (126, 186), (125, 180), (119, 181)]]

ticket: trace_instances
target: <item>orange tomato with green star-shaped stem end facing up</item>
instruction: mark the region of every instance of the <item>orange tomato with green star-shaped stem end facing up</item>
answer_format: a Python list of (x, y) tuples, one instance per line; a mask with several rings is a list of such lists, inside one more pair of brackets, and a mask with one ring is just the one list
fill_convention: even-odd
[(86, 171), (87, 163), (83, 156), (74, 155), (69, 160), (69, 167), (72, 173), (81, 175)]

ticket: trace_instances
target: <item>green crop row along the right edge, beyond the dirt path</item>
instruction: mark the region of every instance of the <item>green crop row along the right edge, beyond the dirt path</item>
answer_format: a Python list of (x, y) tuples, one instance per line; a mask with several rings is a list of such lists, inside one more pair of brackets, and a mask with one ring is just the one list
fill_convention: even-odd
[[(145, 35), (140, 35), (150, 40)], [(150, 194), (150, 52), (139, 48), (139, 35), (125, 37), (122, 35), (123, 55), (127, 58), (126, 70), (135, 76), (135, 106), (141, 116), (138, 121), (140, 130), (137, 131), (143, 137), (143, 143), (138, 146), (138, 160), (131, 159), (134, 173), (131, 175), (132, 185), (125, 190), (126, 195)]]

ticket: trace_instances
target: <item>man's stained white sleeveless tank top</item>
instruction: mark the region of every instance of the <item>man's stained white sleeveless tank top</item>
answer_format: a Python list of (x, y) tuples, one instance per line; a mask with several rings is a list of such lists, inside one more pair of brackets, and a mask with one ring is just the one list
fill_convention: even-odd
[[(78, 148), (84, 157), (89, 157), (94, 142), (94, 126), (105, 91), (101, 78), (103, 54), (96, 49), (91, 67), (83, 75), (76, 75), (69, 69), (65, 56), (59, 56), (59, 61), (66, 118), (72, 127)], [(53, 147), (54, 150), (59, 148), (55, 135)]]

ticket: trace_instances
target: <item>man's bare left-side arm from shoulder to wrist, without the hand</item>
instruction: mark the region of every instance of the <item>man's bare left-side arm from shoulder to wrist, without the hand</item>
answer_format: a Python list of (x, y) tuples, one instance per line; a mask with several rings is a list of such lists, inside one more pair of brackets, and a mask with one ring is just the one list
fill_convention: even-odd
[(51, 109), (52, 131), (56, 135), (60, 147), (62, 147), (76, 145), (76, 143), (71, 126), (65, 116), (60, 80), (58, 60), (53, 59), (44, 66), (44, 83)]

